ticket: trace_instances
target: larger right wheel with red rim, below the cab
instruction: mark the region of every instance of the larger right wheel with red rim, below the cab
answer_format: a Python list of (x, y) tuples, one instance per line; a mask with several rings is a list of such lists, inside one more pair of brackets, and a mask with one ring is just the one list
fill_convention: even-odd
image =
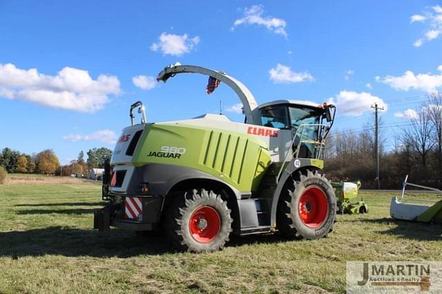
[(278, 203), (276, 226), (291, 239), (319, 239), (333, 229), (336, 197), (332, 185), (316, 170), (287, 183)]

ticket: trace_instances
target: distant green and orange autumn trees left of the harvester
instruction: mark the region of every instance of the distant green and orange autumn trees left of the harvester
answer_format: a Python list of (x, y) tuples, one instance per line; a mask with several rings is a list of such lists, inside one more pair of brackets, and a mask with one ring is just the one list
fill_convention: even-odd
[(3, 148), (0, 153), (0, 166), (8, 173), (37, 173), (43, 175), (80, 175), (87, 176), (91, 168), (103, 168), (104, 161), (111, 158), (112, 150), (108, 148), (92, 148), (88, 150), (88, 159), (84, 152), (70, 164), (61, 166), (55, 152), (50, 149), (28, 155), (11, 148)]

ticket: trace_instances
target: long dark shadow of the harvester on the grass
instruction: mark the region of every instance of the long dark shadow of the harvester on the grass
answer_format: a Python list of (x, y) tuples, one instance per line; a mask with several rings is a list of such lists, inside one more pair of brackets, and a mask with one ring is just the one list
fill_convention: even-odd
[[(232, 236), (227, 247), (285, 242), (278, 234)], [(106, 232), (52, 226), (28, 231), (0, 232), (0, 256), (64, 255), (67, 257), (133, 257), (176, 253), (164, 236), (142, 237), (132, 231)]]

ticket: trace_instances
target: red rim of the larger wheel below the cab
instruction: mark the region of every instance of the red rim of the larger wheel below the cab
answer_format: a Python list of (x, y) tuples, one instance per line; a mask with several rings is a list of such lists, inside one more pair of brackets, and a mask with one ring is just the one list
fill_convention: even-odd
[(307, 188), (299, 200), (299, 216), (310, 228), (318, 228), (327, 217), (329, 202), (320, 188)]

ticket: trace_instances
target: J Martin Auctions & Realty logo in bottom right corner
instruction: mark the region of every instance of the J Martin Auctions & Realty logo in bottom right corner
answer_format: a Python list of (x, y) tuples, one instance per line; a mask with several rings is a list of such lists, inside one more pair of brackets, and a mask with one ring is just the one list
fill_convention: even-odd
[(440, 293), (441, 262), (347, 262), (347, 293)]

